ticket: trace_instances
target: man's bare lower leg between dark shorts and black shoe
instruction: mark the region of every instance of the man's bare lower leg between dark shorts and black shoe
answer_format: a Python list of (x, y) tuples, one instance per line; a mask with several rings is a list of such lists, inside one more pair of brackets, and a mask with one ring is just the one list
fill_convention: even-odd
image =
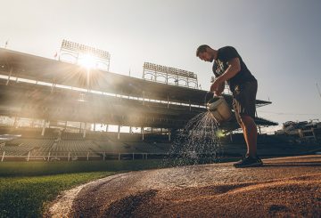
[(251, 116), (241, 115), (243, 135), (247, 146), (247, 155), (257, 157), (258, 129)]

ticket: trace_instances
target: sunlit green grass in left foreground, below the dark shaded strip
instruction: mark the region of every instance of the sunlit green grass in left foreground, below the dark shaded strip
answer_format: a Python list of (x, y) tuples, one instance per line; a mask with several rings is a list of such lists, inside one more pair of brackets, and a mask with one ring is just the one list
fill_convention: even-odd
[(41, 217), (62, 190), (111, 175), (111, 172), (59, 174), (0, 179), (0, 217)]

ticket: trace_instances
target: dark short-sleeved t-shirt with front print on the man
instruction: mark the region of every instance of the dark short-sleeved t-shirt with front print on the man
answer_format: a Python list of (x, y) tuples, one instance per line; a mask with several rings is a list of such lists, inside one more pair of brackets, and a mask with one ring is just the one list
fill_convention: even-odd
[(246, 82), (256, 81), (250, 70), (246, 67), (240, 54), (232, 46), (226, 46), (218, 49), (218, 58), (214, 60), (213, 73), (215, 77), (222, 75), (228, 68), (228, 61), (238, 58), (241, 63), (241, 70), (235, 75), (235, 77), (227, 80), (228, 85), (232, 92), (235, 90), (235, 85), (241, 85)]

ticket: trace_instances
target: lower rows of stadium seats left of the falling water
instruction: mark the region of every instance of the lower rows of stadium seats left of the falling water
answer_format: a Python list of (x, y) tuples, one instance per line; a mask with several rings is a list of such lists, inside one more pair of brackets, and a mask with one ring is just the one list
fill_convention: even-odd
[[(44, 159), (51, 160), (57, 159), (70, 159), (78, 157), (100, 157), (103, 155), (142, 155), (142, 154), (165, 154), (169, 150), (161, 149), (161, 144), (156, 146), (150, 142), (135, 141), (135, 139), (129, 139), (128, 141), (118, 141), (113, 139), (112, 135), (107, 140), (75, 140), (75, 136), (78, 139), (77, 134), (66, 134), (71, 138), (64, 137), (64, 139), (34, 139), (19, 137), (12, 141), (6, 141), (4, 146), (0, 148), (0, 155), (5, 155), (5, 158), (12, 157), (25, 157), (28, 160)], [(112, 139), (112, 140), (111, 140)], [(167, 144), (167, 148), (169, 145)], [(5, 151), (5, 153), (4, 153)]]

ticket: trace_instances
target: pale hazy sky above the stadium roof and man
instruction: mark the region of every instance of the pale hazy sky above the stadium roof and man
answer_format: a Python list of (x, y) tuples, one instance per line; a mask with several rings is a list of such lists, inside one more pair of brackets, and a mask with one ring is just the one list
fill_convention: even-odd
[(210, 89), (200, 44), (232, 45), (258, 79), (258, 109), (285, 121), (321, 121), (319, 0), (0, 0), (0, 46), (53, 59), (63, 39), (111, 53), (110, 71), (142, 77), (144, 61), (197, 74)]

